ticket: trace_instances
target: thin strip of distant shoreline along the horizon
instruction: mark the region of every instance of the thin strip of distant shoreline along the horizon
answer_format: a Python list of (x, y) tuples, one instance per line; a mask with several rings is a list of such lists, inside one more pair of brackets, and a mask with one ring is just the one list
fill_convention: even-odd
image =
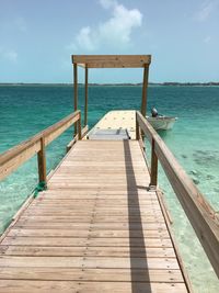
[[(79, 86), (83, 86), (84, 83), (79, 82)], [(72, 83), (39, 83), (39, 82), (31, 82), (31, 83), (25, 83), (25, 82), (0, 82), (0, 87), (5, 87), (5, 86), (26, 86), (26, 87), (34, 87), (34, 86), (39, 86), (39, 87), (53, 87), (53, 86), (69, 86), (72, 87)], [(101, 87), (141, 87), (142, 83), (130, 83), (130, 82), (122, 82), (122, 83), (89, 83), (89, 86), (101, 86)], [(149, 82), (149, 86), (164, 86), (164, 87), (219, 87), (219, 82)]]

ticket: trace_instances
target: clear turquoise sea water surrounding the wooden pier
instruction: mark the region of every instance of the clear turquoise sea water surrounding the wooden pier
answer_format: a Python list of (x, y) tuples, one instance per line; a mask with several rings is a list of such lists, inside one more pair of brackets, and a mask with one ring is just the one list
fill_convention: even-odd
[[(79, 104), (83, 110), (83, 87)], [(1, 86), (0, 153), (13, 147), (72, 112), (71, 86)], [(92, 86), (89, 89), (89, 126), (110, 110), (139, 109), (141, 87)], [(174, 128), (160, 133), (216, 211), (219, 211), (219, 87), (148, 89), (148, 109), (177, 116)], [(47, 147), (48, 171), (64, 157), (72, 128)], [(37, 184), (36, 157), (0, 183), (0, 233)], [(159, 185), (173, 219), (173, 230), (195, 292), (218, 293), (215, 275), (163, 171)]]

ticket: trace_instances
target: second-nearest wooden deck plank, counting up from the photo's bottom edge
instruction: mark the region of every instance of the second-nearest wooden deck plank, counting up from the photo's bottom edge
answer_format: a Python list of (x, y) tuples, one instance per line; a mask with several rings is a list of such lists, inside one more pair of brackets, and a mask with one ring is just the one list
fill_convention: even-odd
[(76, 269), (76, 268), (1, 268), (0, 279), (101, 282), (170, 282), (183, 283), (180, 270)]

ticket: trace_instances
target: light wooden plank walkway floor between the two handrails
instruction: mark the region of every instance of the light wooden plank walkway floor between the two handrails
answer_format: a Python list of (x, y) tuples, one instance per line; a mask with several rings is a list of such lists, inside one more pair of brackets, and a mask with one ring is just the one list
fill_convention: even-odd
[(187, 292), (138, 142), (81, 140), (0, 245), (0, 292)]

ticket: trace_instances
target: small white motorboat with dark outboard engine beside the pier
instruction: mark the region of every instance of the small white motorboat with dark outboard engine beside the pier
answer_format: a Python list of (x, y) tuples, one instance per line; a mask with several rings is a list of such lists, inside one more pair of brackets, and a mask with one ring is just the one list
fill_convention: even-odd
[(160, 115), (157, 109), (152, 108), (151, 116), (147, 116), (147, 120), (155, 131), (168, 131), (173, 127), (177, 117)]

